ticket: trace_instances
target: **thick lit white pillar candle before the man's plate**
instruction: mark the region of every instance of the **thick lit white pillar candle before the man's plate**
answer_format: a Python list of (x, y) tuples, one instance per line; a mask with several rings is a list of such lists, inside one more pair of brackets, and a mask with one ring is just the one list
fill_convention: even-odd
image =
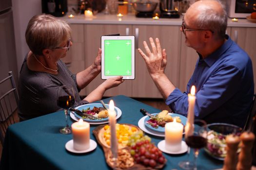
[(181, 149), (183, 128), (183, 125), (181, 123), (176, 122), (176, 119), (174, 119), (173, 122), (165, 124), (166, 150), (176, 152)]

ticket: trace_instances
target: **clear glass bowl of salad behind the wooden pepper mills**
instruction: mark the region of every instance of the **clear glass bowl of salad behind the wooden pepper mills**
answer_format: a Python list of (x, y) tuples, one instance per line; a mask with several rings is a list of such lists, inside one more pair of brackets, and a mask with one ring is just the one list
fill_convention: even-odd
[[(226, 157), (226, 136), (240, 136), (242, 128), (227, 123), (212, 123), (207, 126), (207, 146), (204, 150), (218, 160)], [(239, 151), (239, 150), (238, 150)]]

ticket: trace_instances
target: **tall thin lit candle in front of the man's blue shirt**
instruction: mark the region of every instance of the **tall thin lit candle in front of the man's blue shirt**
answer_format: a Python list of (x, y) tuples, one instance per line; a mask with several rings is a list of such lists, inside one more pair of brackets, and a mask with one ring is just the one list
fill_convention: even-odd
[(194, 117), (195, 117), (195, 102), (196, 102), (196, 87), (192, 85), (191, 92), (188, 94), (188, 115), (187, 123), (185, 126), (185, 137), (193, 135), (194, 132)]

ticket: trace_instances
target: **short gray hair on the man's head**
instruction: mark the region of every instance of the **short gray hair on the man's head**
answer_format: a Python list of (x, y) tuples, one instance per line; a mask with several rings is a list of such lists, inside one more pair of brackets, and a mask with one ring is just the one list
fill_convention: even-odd
[(210, 5), (209, 6), (202, 6), (200, 8), (200, 12), (197, 16), (197, 20), (195, 24), (198, 28), (201, 29), (209, 29), (217, 35), (217, 38), (225, 38), (225, 33), (227, 29), (227, 12), (225, 5), (220, 2), (219, 0), (214, 0), (220, 3), (222, 10), (216, 11), (213, 10)]

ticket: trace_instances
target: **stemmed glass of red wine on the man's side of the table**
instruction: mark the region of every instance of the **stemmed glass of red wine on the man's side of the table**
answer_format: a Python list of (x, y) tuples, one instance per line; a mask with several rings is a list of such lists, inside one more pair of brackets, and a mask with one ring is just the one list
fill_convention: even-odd
[(199, 149), (207, 145), (207, 130), (204, 120), (196, 119), (193, 125), (189, 123), (185, 127), (185, 142), (188, 145), (188, 157), (190, 158), (191, 148), (194, 150), (193, 160), (179, 162), (179, 167), (184, 170), (197, 170), (197, 157)]

